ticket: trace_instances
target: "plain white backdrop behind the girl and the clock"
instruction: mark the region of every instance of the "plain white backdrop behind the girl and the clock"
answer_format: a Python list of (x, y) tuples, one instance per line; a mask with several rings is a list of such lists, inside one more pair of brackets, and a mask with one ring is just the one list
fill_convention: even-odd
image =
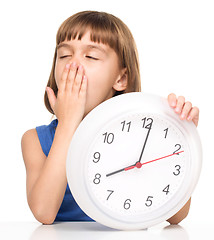
[(142, 90), (183, 95), (200, 108), (203, 168), (185, 223), (213, 220), (214, 2), (4, 1), (0, 4), (0, 221), (36, 221), (26, 200), (23, 133), (49, 124), (43, 95), (56, 32), (82, 10), (106, 11), (124, 21), (136, 40)]

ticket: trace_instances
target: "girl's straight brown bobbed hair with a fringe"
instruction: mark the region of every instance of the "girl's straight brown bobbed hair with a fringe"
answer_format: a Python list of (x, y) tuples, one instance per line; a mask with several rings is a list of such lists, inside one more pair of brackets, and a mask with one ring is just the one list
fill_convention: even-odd
[[(121, 68), (127, 68), (127, 88), (124, 91), (116, 92), (114, 96), (128, 92), (140, 92), (138, 52), (130, 30), (119, 18), (97, 11), (76, 13), (61, 24), (56, 35), (55, 54), (47, 86), (51, 87), (57, 96), (58, 88), (54, 76), (57, 46), (65, 40), (70, 41), (76, 37), (81, 40), (88, 29), (91, 32), (91, 41), (109, 45), (117, 53)], [(46, 92), (44, 101), (48, 111), (54, 114)]]

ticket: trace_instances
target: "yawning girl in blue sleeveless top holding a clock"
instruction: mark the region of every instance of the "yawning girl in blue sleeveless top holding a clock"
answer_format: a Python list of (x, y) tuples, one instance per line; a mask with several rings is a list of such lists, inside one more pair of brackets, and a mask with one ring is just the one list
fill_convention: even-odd
[[(46, 108), (56, 119), (28, 130), (21, 141), (27, 200), (39, 222), (93, 221), (76, 204), (68, 187), (68, 147), (76, 128), (93, 108), (134, 91), (141, 91), (141, 81), (137, 49), (127, 26), (104, 12), (84, 11), (66, 19), (57, 32), (44, 96)], [(181, 119), (197, 125), (198, 108), (174, 94), (168, 101)], [(179, 223), (189, 206), (190, 200), (168, 221)]]

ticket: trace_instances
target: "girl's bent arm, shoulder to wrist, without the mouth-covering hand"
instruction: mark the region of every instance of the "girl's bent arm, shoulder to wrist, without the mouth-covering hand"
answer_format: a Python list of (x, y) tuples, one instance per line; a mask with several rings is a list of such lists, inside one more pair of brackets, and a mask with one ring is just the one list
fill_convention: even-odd
[(41, 223), (51, 224), (60, 208), (66, 190), (66, 154), (70, 138), (59, 126), (46, 158), (36, 129), (22, 137), (22, 154), (26, 167), (26, 190), (29, 207)]

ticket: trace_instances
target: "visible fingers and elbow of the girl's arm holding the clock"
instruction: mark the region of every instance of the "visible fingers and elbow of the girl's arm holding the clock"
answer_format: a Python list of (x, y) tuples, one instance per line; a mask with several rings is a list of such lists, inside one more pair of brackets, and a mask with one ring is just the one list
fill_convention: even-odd
[[(198, 126), (199, 120), (199, 109), (197, 107), (192, 107), (191, 102), (185, 102), (185, 98), (180, 96), (176, 97), (175, 94), (169, 94), (168, 96), (169, 105), (174, 108), (175, 113), (180, 115), (182, 120), (193, 121), (193, 123)], [(167, 221), (170, 224), (178, 224), (181, 222), (189, 213), (191, 198), (184, 205), (184, 207), (177, 212), (174, 216), (169, 218)]]

